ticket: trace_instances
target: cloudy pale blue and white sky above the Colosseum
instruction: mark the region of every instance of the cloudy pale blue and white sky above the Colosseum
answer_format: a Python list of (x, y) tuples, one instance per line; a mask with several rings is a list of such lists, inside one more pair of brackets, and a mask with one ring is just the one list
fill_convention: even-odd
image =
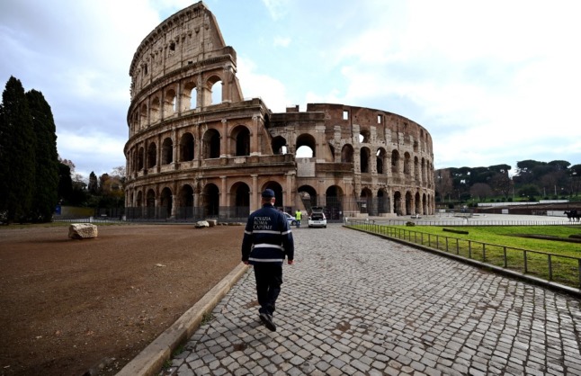
[[(76, 172), (124, 166), (129, 68), (185, 0), (3, 0), (0, 85), (49, 102)], [(434, 139), (435, 168), (581, 164), (577, 0), (205, 0), (237, 50), (243, 94), (273, 112), (343, 103)], [(514, 171), (513, 171), (514, 172)]]

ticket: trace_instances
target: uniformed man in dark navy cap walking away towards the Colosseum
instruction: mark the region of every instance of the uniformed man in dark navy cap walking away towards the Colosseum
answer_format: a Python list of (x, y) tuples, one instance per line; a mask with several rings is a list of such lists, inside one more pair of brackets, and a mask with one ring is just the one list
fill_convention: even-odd
[(258, 315), (270, 330), (275, 331), (273, 313), (281, 292), (282, 264), (294, 264), (294, 240), (284, 213), (274, 209), (274, 192), (262, 193), (262, 209), (256, 210), (246, 222), (242, 240), (242, 262), (255, 268)]

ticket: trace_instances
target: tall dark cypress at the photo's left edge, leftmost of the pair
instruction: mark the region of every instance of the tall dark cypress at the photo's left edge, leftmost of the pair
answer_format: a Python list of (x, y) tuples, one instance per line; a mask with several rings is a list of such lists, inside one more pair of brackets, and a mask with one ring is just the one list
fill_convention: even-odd
[(2, 94), (0, 118), (0, 210), (10, 223), (25, 219), (35, 186), (32, 118), (22, 83), (13, 76)]

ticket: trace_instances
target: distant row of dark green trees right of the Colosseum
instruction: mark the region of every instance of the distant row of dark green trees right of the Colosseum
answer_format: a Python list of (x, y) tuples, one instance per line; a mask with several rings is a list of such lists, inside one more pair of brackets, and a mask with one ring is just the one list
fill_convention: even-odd
[(581, 188), (581, 165), (565, 160), (518, 161), (511, 166), (442, 168), (434, 171), (437, 202), (537, 201), (574, 199)]

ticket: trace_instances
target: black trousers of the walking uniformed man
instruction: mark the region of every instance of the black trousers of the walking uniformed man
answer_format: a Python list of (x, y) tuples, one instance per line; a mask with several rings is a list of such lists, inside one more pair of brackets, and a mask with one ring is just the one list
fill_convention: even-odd
[(256, 294), (260, 313), (273, 314), (276, 299), (281, 293), (282, 285), (282, 264), (278, 263), (256, 263)]

